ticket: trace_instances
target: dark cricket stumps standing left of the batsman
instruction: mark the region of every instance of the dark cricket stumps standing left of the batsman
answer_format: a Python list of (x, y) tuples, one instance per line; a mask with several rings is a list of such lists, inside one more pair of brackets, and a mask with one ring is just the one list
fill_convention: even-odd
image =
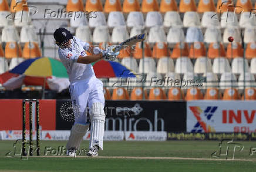
[(33, 102), (36, 103), (36, 155), (40, 155), (39, 100), (22, 100), (22, 156), (26, 156), (26, 102), (29, 102), (29, 156), (33, 155)]

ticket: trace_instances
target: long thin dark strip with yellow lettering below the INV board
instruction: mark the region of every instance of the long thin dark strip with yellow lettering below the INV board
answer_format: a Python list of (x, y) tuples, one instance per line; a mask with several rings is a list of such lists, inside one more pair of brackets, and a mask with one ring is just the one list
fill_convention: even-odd
[(167, 140), (250, 140), (248, 133), (167, 133)]

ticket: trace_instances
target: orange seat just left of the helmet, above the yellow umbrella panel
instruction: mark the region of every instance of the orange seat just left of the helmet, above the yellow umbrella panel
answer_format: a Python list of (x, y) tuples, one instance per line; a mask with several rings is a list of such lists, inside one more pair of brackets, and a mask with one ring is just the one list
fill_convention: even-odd
[(38, 43), (35, 42), (26, 42), (22, 52), (22, 58), (31, 59), (41, 57), (41, 52), (38, 47)]

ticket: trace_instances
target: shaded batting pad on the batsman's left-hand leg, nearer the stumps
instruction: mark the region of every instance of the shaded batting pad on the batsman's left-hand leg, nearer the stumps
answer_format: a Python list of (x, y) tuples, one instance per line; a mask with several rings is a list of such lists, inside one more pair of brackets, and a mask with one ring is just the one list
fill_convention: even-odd
[(89, 130), (89, 124), (75, 124), (73, 125), (69, 141), (66, 144), (66, 149), (78, 149), (80, 146), (81, 141), (83, 140), (83, 136), (85, 136), (85, 133)]

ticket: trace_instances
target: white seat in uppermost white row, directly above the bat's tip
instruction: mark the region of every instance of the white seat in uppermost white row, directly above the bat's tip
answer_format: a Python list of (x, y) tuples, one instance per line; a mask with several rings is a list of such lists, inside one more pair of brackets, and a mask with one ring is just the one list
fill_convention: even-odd
[(142, 12), (130, 12), (129, 15), (127, 16), (126, 25), (130, 28), (134, 26), (144, 26), (144, 18)]

